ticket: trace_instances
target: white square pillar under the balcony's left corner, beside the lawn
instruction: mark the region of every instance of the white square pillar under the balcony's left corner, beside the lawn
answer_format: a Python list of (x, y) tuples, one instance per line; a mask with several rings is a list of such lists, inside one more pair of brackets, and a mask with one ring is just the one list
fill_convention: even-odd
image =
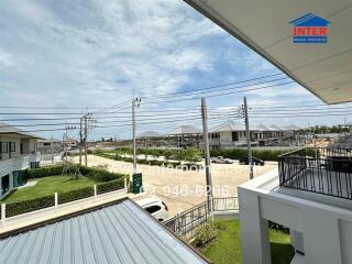
[(267, 220), (261, 218), (258, 196), (239, 188), (243, 264), (271, 264)]

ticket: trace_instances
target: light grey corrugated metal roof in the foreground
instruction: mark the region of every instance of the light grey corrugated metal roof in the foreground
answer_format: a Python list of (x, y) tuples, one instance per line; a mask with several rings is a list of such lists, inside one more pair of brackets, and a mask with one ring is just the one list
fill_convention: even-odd
[(0, 241), (2, 264), (208, 263), (129, 199)]

